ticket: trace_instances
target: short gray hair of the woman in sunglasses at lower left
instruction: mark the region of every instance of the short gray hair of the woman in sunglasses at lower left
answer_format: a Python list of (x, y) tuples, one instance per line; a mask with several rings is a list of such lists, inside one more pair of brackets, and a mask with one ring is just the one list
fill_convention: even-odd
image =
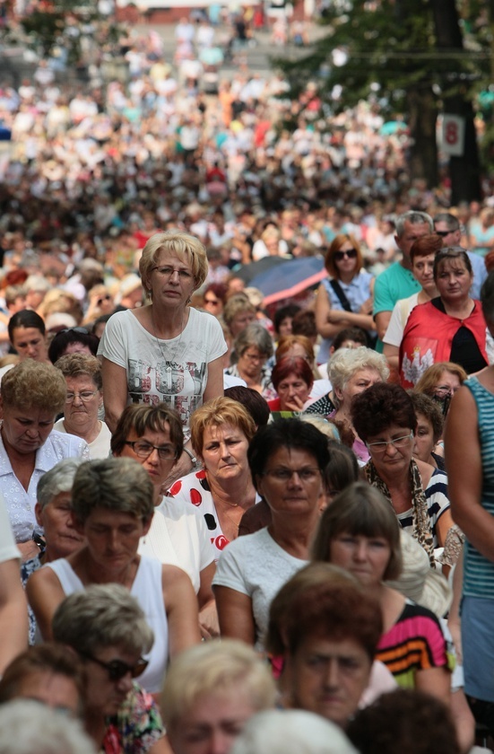
[(82, 654), (109, 646), (143, 654), (154, 641), (138, 601), (118, 583), (91, 584), (65, 597), (56, 608), (52, 630), (54, 641)]

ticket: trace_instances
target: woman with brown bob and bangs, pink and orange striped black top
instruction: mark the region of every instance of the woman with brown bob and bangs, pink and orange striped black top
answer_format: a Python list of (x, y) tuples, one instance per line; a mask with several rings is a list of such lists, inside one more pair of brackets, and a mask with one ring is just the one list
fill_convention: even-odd
[(356, 482), (325, 509), (312, 559), (347, 569), (377, 599), (383, 635), (376, 659), (397, 683), (449, 701), (446, 641), (438, 618), (385, 583), (402, 572), (401, 536), (386, 498), (375, 487)]

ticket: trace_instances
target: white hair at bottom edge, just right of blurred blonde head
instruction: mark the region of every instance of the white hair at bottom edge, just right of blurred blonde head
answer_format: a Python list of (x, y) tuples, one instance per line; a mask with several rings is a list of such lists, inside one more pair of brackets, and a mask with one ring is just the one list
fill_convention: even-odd
[(251, 717), (231, 754), (357, 754), (342, 729), (301, 709), (272, 709)]

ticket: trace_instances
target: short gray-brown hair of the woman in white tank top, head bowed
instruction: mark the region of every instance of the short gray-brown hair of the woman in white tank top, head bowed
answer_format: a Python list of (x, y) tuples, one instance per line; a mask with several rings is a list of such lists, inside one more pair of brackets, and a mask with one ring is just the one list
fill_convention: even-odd
[(96, 508), (130, 513), (143, 522), (152, 519), (154, 490), (146, 470), (132, 458), (88, 460), (77, 469), (72, 510), (84, 523)]

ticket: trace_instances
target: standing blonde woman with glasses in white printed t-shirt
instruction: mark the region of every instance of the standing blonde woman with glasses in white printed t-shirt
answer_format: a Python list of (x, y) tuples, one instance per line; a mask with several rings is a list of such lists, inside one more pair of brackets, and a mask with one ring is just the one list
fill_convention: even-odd
[[(106, 421), (114, 432), (127, 403), (164, 400), (177, 408), (188, 441), (192, 413), (223, 392), (221, 326), (188, 306), (207, 275), (204, 246), (185, 232), (155, 233), (144, 246), (139, 271), (152, 302), (118, 311), (101, 338)], [(189, 470), (190, 456), (182, 453), (176, 472)]]

